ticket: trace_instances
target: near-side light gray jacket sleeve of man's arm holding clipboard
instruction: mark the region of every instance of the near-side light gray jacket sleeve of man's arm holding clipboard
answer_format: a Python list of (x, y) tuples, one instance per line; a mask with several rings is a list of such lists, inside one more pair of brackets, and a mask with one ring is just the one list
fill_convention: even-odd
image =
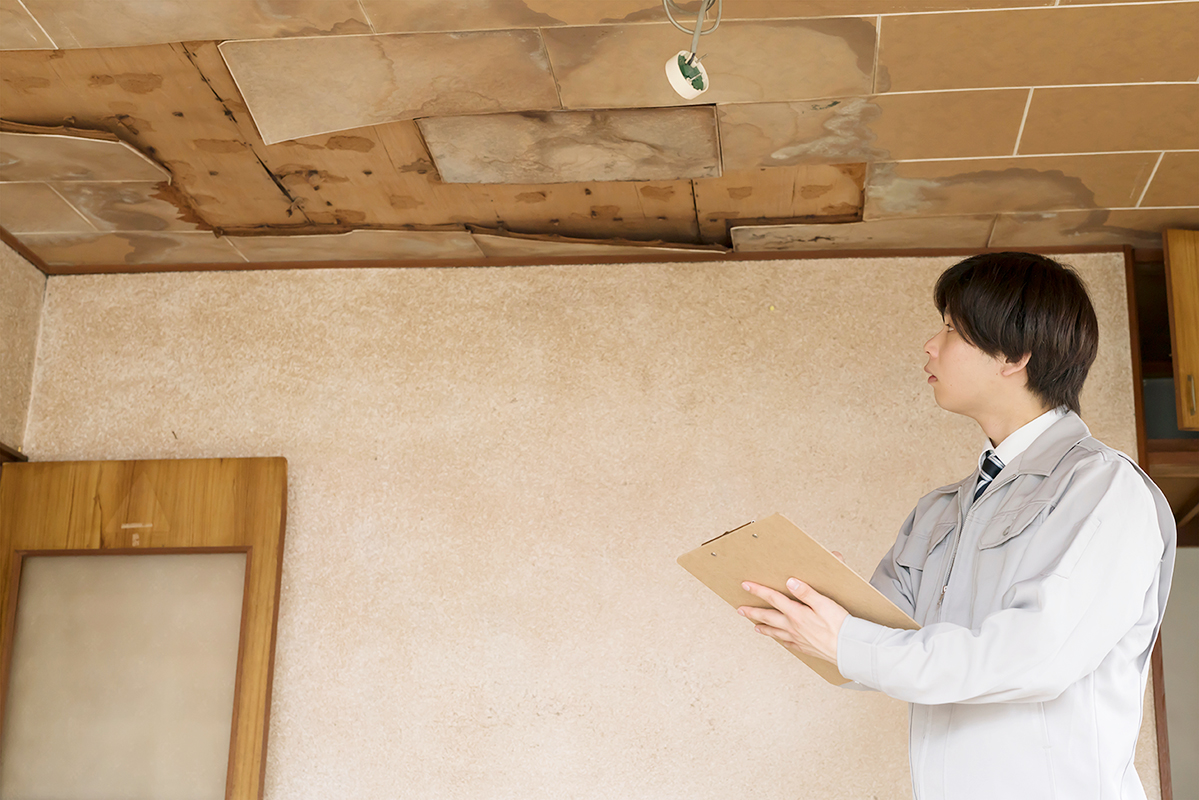
[(1072, 535), (1006, 590), (999, 612), (976, 628), (920, 631), (850, 616), (837, 643), (842, 675), (910, 703), (1049, 700), (1138, 621), (1156, 621), (1165, 547), (1149, 487), (1120, 458), (1080, 465), (1041, 530), (1068, 525)]

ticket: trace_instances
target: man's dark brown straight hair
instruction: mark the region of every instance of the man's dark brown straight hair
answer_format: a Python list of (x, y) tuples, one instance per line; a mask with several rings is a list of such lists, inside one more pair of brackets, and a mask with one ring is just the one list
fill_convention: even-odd
[(1099, 324), (1073, 269), (1032, 253), (984, 253), (936, 279), (936, 311), (992, 357), (1019, 361), (1029, 391), (1049, 408), (1079, 413), (1078, 396), (1095, 362)]

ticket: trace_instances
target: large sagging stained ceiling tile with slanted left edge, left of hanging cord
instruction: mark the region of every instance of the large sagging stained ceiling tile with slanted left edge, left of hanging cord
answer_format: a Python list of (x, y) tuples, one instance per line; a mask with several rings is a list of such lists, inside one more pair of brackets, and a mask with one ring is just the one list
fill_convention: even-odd
[(448, 114), (558, 108), (535, 30), (224, 42), (267, 144)]

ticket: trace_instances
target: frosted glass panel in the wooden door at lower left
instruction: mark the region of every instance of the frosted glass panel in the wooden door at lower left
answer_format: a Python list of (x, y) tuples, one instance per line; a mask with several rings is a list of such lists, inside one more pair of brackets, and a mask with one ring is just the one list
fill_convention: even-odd
[(245, 553), (29, 557), (5, 800), (223, 800)]

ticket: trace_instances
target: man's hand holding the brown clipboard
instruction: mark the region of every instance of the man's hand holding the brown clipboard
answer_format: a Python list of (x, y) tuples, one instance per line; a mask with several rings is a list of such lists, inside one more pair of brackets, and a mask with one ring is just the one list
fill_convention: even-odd
[[(840, 554), (837, 554), (840, 558)], [(759, 633), (778, 640), (795, 654), (817, 656), (837, 663), (837, 634), (849, 612), (797, 578), (790, 578), (787, 588), (799, 600), (791, 600), (781, 591), (746, 581), (741, 587), (761, 597), (773, 608), (741, 606), (737, 613), (755, 622)]]

